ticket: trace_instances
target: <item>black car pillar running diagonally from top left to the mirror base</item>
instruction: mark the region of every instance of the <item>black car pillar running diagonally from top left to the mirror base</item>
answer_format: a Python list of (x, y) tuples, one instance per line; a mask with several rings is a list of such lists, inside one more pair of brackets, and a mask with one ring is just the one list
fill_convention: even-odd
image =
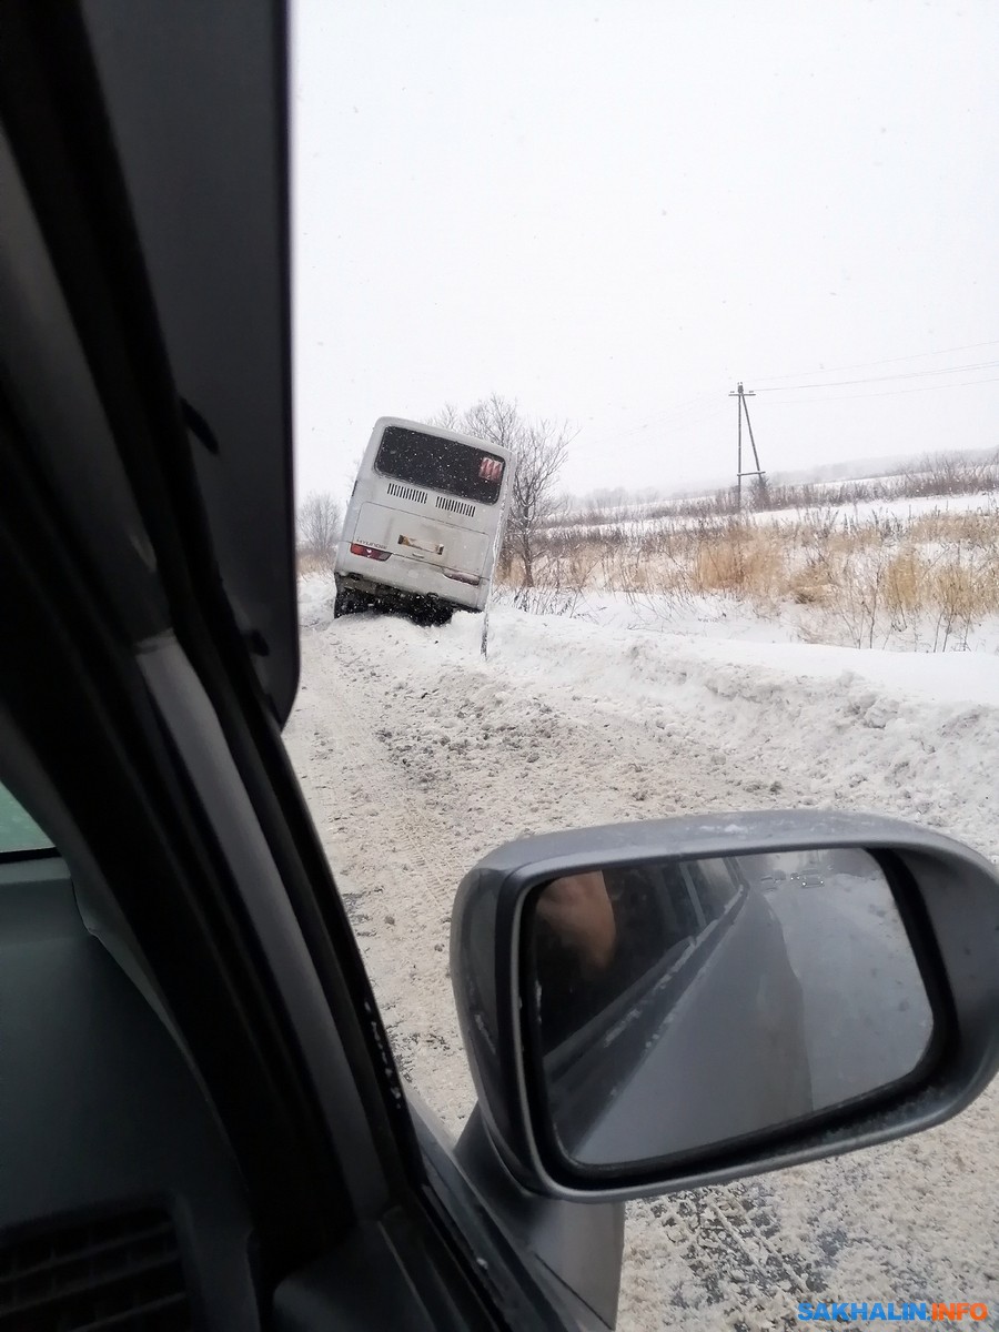
[[(282, 5), (269, 8), (277, 23)], [(104, 883), (144, 951), (241, 1162), (265, 1253), (273, 1247), (270, 1277), (342, 1239), (324, 1200), (345, 1188), (358, 1233), (388, 1243), (384, 1219), (405, 1213), (432, 1259), (416, 1277), (421, 1297), (440, 1303), (444, 1283), (466, 1313), (497, 1325), (570, 1327), (586, 1311), (565, 1283), (559, 1295), (554, 1259), (539, 1268), (529, 1257), (543, 1247), (538, 1227), (525, 1241), (488, 1172), (476, 1191), (466, 1160), (446, 1191), (450, 1208), (465, 1197), (506, 1245), (507, 1260), (488, 1268), (428, 1184), (433, 1134), (421, 1124), (421, 1150), (281, 742), (266, 643), (220, 577), (194, 465), (204, 422), (192, 425), (173, 382), (88, 12), (15, 0), (3, 15), (3, 165), (20, 229), (0, 300), (12, 345), (32, 350), (7, 366), (0, 404), (3, 545), (17, 587), (8, 625), (19, 629), (3, 655), (5, 775), (71, 862)], [(282, 57), (284, 36), (277, 24)], [(285, 253), (285, 280), (286, 268)], [(37, 309), (16, 269), (31, 276)], [(61, 414), (47, 410), (53, 402)], [(100, 480), (97, 503), (88, 477)], [(67, 746), (65, 734), (87, 743)], [(115, 843), (123, 815), (131, 855)], [(157, 866), (156, 892), (136, 876), (139, 847)], [(246, 1104), (244, 1079), (268, 1095)], [(280, 1172), (261, 1167), (261, 1142)], [(450, 1159), (444, 1146), (438, 1176)], [(547, 1211), (521, 1200), (521, 1220)], [(558, 1213), (558, 1233), (575, 1227), (577, 1251), (610, 1273), (609, 1325), (617, 1225), (590, 1243), (601, 1208)]]

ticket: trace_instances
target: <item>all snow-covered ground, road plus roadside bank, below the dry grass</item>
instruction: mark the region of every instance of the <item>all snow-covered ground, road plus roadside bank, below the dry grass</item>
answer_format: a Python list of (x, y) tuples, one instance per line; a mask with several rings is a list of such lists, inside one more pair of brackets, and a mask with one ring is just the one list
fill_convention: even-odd
[[(457, 1132), (473, 1094), (448, 976), (458, 880), (514, 836), (699, 811), (839, 807), (999, 860), (999, 661), (500, 609), (332, 621), (302, 586), (288, 745), (400, 1064)], [(771, 638), (781, 631), (770, 629)], [(629, 1208), (619, 1327), (791, 1328), (799, 1300), (999, 1297), (999, 1091), (839, 1160)], [(991, 1299), (990, 1299), (991, 1296)]]

